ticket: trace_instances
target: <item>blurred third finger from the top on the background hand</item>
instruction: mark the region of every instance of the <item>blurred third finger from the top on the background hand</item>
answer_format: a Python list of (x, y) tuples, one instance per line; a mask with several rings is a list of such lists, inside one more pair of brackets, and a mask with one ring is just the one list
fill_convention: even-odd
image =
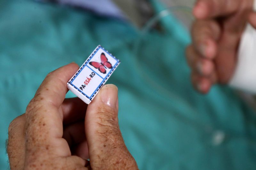
[(201, 76), (210, 76), (214, 71), (214, 64), (212, 60), (201, 57), (193, 46), (187, 48), (187, 61), (193, 72)]

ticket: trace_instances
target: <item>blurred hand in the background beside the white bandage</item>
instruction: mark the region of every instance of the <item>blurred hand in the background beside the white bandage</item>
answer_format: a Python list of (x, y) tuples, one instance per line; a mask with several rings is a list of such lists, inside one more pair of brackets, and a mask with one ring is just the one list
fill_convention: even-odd
[(227, 84), (232, 78), (246, 22), (256, 26), (252, 9), (253, 0), (197, 0), (186, 55), (199, 92), (207, 93), (215, 83)]

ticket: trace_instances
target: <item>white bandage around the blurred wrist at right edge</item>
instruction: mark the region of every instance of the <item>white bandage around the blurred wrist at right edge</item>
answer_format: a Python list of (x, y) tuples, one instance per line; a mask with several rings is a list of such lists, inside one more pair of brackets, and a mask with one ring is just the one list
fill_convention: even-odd
[(246, 26), (242, 35), (236, 70), (229, 85), (256, 94), (256, 30), (250, 24)]

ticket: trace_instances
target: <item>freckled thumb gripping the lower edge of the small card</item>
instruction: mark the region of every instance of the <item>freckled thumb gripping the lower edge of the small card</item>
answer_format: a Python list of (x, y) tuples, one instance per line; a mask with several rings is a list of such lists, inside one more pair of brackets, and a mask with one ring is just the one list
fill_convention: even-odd
[(88, 105), (85, 134), (92, 169), (138, 169), (118, 125), (118, 90), (105, 85)]

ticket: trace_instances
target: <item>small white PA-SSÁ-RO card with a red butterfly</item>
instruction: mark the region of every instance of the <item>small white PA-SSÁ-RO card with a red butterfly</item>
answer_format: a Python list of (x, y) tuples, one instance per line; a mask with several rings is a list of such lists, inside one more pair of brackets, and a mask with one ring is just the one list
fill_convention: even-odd
[(99, 45), (68, 81), (68, 89), (89, 104), (119, 64), (116, 57)]

